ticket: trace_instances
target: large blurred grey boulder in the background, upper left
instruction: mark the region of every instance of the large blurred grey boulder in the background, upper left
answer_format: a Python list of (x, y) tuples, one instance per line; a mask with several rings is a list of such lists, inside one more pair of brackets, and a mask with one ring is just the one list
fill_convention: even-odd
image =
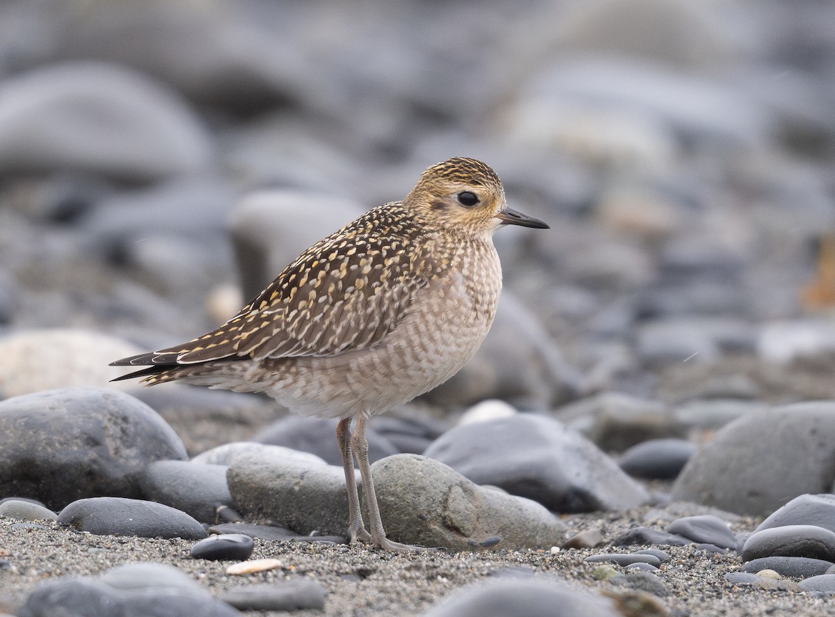
[(123, 65), (48, 64), (6, 79), (0, 101), (3, 172), (72, 169), (143, 182), (210, 166), (210, 137), (184, 101)]

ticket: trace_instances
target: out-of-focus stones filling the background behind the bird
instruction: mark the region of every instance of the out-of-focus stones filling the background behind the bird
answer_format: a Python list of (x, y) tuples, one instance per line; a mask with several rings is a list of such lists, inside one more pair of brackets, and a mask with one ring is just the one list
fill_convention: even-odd
[(833, 138), (820, 0), (3, 0), (0, 396), (104, 385), (473, 156), (551, 229), (498, 232), (428, 403), (829, 398)]

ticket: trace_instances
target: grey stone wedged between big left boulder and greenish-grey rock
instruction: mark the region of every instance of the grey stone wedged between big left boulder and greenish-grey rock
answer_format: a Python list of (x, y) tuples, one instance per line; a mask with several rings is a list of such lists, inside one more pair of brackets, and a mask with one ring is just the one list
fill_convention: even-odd
[(226, 469), (225, 465), (154, 461), (145, 467), (139, 486), (150, 501), (182, 510), (200, 523), (215, 523), (217, 508), (232, 506)]

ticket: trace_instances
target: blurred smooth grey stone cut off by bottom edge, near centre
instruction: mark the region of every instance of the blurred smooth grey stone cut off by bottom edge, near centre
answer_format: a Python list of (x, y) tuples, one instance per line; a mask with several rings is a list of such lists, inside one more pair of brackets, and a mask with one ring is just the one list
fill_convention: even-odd
[(559, 583), (525, 579), (491, 581), (458, 590), (425, 617), (617, 617), (605, 599)]

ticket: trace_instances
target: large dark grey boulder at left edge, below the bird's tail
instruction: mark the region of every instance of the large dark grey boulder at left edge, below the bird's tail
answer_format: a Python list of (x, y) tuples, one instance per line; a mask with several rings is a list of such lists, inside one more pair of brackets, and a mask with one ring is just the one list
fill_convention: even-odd
[(130, 395), (66, 388), (0, 402), (0, 495), (60, 509), (83, 497), (142, 497), (152, 461), (185, 460), (165, 421)]

